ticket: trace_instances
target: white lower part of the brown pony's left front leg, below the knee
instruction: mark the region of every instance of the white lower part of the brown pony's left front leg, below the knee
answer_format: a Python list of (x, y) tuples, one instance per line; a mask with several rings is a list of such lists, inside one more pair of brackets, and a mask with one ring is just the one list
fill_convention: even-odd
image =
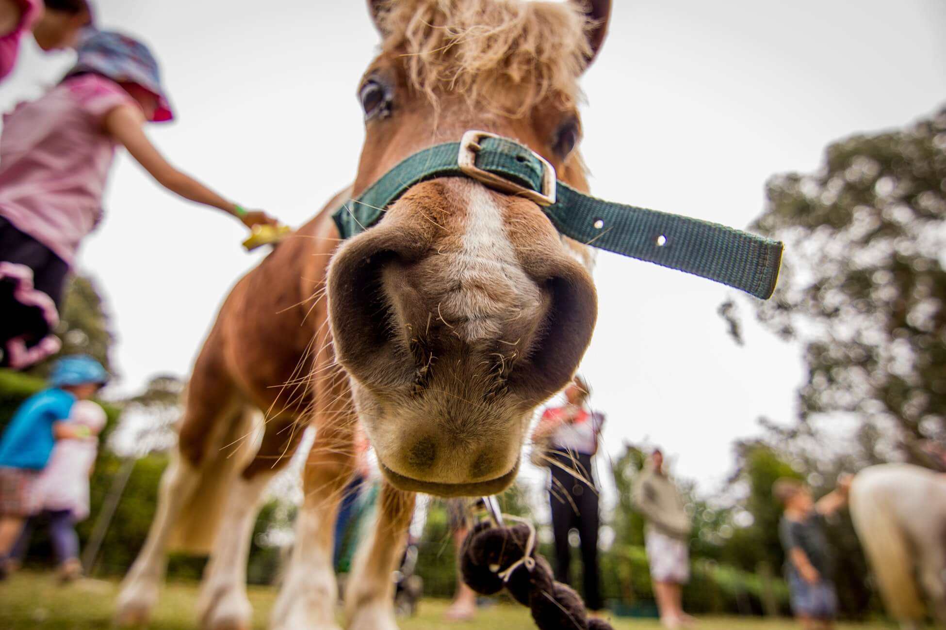
[(306, 494), (296, 519), (289, 570), (272, 609), (272, 630), (339, 630), (335, 622), (339, 587), (332, 566), (338, 501), (332, 499), (315, 492)]

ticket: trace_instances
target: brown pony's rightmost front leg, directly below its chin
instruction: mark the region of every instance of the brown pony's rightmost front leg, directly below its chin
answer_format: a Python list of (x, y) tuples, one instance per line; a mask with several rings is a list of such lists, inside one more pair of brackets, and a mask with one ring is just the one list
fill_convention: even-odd
[(345, 593), (348, 630), (397, 630), (391, 575), (404, 553), (413, 507), (412, 492), (381, 486), (375, 527), (356, 555)]

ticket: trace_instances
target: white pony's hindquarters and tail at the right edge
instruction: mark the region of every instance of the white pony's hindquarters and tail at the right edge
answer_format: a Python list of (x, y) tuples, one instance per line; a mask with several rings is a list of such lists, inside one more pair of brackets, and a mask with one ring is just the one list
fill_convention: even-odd
[(850, 486), (850, 516), (890, 616), (919, 629), (925, 599), (946, 624), (946, 477), (909, 464), (865, 468)]

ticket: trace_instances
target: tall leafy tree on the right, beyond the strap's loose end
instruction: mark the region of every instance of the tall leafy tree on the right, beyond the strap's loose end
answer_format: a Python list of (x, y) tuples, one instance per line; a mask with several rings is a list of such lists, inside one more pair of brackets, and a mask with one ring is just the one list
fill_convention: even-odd
[(767, 198), (752, 228), (784, 241), (785, 261), (754, 310), (803, 348), (801, 419), (850, 414), (864, 463), (925, 463), (920, 443), (946, 438), (946, 109), (836, 142)]

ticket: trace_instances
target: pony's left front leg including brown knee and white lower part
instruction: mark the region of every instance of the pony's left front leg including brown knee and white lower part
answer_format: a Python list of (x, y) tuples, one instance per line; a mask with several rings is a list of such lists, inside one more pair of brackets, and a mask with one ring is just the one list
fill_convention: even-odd
[(339, 589), (332, 566), (335, 519), (354, 469), (351, 421), (317, 431), (303, 474), (305, 501), (296, 519), (289, 569), (272, 609), (272, 630), (339, 630)]

